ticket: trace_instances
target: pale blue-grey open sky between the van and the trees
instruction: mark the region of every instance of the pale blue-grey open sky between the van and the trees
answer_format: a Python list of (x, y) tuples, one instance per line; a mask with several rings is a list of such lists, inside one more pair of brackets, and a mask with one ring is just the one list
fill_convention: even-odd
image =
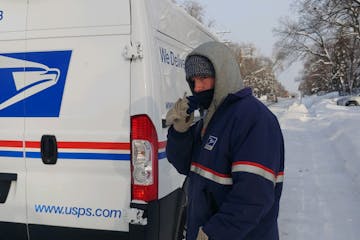
[[(262, 55), (272, 56), (276, 37), (273, 29), (279, 19), (291, 16), (293, 0), (197, 0), (205, 8), (205, 22), (215, 20), (217, 31), (229, 31), (223, 38), (239, 42), (253, 43)], [(280, 82), (290, 91), (297, 91), (294, 82), (299, 64), (278, 75)]]

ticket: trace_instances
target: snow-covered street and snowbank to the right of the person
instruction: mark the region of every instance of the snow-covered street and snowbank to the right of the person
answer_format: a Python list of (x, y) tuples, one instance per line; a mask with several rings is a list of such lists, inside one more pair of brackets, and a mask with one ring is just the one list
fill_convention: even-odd
[(329, 94), (270, 109), (285, 139), (280, 239), (360, 239), (360, 107)]

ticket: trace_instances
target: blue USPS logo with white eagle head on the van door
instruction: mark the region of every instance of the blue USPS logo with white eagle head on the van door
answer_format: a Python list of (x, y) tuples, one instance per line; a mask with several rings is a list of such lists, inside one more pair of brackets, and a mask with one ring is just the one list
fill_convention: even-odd
[(71, 51), (0, 53), (0, 117), (59, 117)]

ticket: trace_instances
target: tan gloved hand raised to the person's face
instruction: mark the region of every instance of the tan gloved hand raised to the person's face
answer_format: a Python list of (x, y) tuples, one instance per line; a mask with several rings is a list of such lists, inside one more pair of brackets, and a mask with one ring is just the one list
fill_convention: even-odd
[(178, 132), (186, 132), (194, 121), (194, 113), (188, 114), (189, 100), (184, 95), (166, 114), (166, 125), (173, 125)]

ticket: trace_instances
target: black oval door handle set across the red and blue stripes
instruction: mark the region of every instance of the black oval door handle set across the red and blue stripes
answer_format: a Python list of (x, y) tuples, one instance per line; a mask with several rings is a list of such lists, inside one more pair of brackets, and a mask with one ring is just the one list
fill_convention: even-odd
[(44, 164), (55, 164), (58, 157), (58, 146), (54, 135), (41, 137), (41, 159)]

